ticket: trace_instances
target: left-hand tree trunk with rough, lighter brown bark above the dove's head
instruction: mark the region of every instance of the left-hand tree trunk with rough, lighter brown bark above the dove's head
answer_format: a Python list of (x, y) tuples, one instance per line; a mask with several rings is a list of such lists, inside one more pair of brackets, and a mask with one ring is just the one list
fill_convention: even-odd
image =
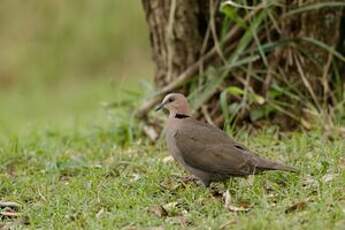
[[(142, 0), (150, 30), (155, 84), (162, 88), (199, 59), (209, 0)], [(205, 11), (206, 10), (206, 11)]]

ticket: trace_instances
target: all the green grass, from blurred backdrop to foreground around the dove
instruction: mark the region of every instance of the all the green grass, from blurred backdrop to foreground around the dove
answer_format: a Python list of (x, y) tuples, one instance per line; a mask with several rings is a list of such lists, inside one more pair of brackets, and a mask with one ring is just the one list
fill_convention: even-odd
[[(140, 7), (3, 2), (0, 200), (21, 208), (18, 218), (0, 215), (0, 229), (343, 229), (341, 137), (238, 131), (237, 140), (300, 174), (270, 172), (206, 189), (185, 182), (187, 174), (166, 161), (164, 143), (139, 135), (131, 115), (138, 95), (119, 88), (153, 75)], [(124, 107), (113, 103), (128, 96)], [(225, 190), (233, 206), (249, 211), (224, 208), (216, 191)]]

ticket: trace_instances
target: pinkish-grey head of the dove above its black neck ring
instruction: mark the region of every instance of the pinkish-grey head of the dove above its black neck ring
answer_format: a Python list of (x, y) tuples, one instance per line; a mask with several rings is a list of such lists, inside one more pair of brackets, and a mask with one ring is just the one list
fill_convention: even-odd
[(156, 111), (162, 108), (169, 110), (170, 115), (189, 114), (187, 98), (180, 93), (170, 93), (166, 95), (163, 101), (156, 107)]

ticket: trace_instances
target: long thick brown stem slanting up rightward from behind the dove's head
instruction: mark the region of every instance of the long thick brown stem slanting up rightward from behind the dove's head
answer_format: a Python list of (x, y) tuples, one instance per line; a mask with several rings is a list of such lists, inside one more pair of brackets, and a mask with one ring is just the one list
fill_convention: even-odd
[[(253, 11), (251, 11), (245, 18), (244, 21), (249, 21), (252, 19), (263, 7), (265, 4), (259, 4)], [(231, 43), (234, 38), (241, 32), (242, 28), (239, 26), (234, 26), (232, 30), (230, 30), (224, 38), (224, 41), (221, 42), (222, 45), (226, 46), (227, 44)], [(235, 44), (236, 45), (236, 44)], [(235, 47), (235, 46), (233, 46)], [(147, 112), (151, 110), (161, 99), (162, 97), (175, 90), (176, 88), (182, 86), (185, 82), (190, 80), (199, 70), (199, 66), (201, 63), (208, 64), (211, 60), (217, 55), (216, 47), (213, 47), (209, 52), (205, 55), (201, 56), (197, 62), (191, 65), (188, 69), (186, 69), (182, 74), (180, 74), (175, 81), (172, 81), (165, 87), (163, 87), (156, 95), (154, 95), (151, 99), (143, 103), (143, 105), (136, 111), (135, 115), (137, 118), (144, 118), (147, 116)]]

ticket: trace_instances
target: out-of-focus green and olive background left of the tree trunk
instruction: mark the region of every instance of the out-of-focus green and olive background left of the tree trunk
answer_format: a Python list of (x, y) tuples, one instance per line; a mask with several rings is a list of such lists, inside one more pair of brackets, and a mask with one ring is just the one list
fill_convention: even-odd
[(0, 140), (103, 121), (102, 104), (153, 75), (140, 1), (3, 0), (0, 50)]

